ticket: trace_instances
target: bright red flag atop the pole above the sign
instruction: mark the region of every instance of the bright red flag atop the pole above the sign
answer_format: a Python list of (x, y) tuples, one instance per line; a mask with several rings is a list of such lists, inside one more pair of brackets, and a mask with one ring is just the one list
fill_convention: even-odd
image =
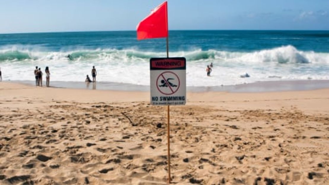
[(137, 25), (137, 40), (168, 37), (167, 1), (145, 17)]

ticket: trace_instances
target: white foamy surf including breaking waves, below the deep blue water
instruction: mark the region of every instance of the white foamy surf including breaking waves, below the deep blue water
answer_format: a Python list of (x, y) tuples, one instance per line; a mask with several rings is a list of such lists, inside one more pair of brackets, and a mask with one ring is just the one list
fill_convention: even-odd
[[(71, 59), (67, 58), (71, 55)], [(33, 70), (49, 66), (53, 81), (84, 81), (91, 67), (98, 81), (149, 85), (149, 59), (165, 57), (165, 52), (138, 49), (95, 49), (46, 51), (40, 47), (6, 46), (0, 48), (3, 78), (34, 80)], [(299, 51), (291, 45), (254, 52), (228, 52), (195, 49), (170, 52), (186, 57), (188, 86), (218, 86), (255, 81), (286, 79), (329, 79), (329, 53)], [(205, 68), (214, 64), (211, 77)], [(240, 78), (248, 73), (249, 78)], [(271, 78), (276, 76), (280, 78)]]

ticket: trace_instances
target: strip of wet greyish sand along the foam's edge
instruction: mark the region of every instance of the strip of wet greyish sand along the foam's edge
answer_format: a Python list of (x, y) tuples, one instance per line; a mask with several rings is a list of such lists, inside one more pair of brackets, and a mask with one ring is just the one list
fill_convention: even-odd
[[(4, 81), (34, 86), (35, 81)], [(45, 81), (44, 81), (45, 82)], [(65, 89), (87, 89), (87, 90), (110, 90), (110, 91), (140, 91), (149, 92), (150, 86), (125, 84), (116, 82), (96, 82), (86, 84), (85, 82), (63, 82), (50, 81), (52, 88)], [(260, 81), (248, 84), (227, 85), (227, 86), (188, 86), (187, 92), (229, 92), (229, 93), (261, 93), (261, 92), (285, 92), (285, 91), (308, 91), (328, 89), (329, 80), (282, 80), (282, 81)]]

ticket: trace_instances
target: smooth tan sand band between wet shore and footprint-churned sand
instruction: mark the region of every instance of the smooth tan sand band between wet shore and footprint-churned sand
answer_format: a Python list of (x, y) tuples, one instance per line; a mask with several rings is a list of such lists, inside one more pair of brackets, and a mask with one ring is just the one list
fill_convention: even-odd
[[(21, 101), (25, 97), (33, 97), (39, 101), (67, 101), (67, 102), (83, 102), (83, 103), (132, 103), (132, 102), (150, 102), (150, 91), (129, 91), (122, 90), (89, 90), (89, 89), (73, 89), (73, 88), (46, 88), (36, 87), (15, 82), (0, 82), (0, 92), (2, 101), (16, 99)], [(257, 102), (263, 101), (290, 101), (298, 100), (314, 100), (318, 98), (329, 99), (329, 88), (304, 91), (275, 91), (275, 92), (225, 92), (225, 91), (206, 91), (191, 92), (187, 91), (187, 104), (195, 104), (207, 102), (210, 106), (218, 106), (223, 102)], [(266, 105), (265, 102), (264, 106)], [(317, 102), (318, 103), (318, 102)], [(6, 104), (6, 103), (5, 103)], [(1, 105), (1, 104), (0, 104)], [(251, 105), (254, 107), (254, 105)], [(261, 105), (264, 107), (263, 105)], [(275, 105), (277, 107), (278, 105)], [(180, 106), (178, 106), (180, 107)], [(279, 108), (278, 106), (277, 108)], [(326, 108), (326, 106), (324, 106)], [(272, 107), (273, 108), (273, 107)], [(321, 110), (326, 111), (326, 109)], [(327, 110), (328, 111), (328, 110)]]

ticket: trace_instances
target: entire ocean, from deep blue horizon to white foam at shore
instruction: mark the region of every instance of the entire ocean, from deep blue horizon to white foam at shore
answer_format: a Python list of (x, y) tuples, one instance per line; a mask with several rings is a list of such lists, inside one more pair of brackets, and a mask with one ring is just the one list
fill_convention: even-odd
[[(34, 81), (49, 66), (51, 81), (84, 82), (95, 66), (98, 82), (149, 86), (150, 58), (165, 56), (165, 39), (135, 31), (0, 34), (3, 80)], [(188, 87), (328, 80), (329, 31), (169, 31), (169, 57), (187, 59)]]

